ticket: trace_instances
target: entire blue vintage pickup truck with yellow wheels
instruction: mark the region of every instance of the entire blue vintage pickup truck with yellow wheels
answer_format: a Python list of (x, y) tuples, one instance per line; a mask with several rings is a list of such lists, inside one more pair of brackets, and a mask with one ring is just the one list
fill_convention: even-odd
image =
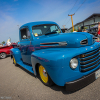
[(100, 44), (86, 32), (62, 33), (55, 22), (27, 23), (19, 29), (19, 47), (11, 58), (43, 84), (76, 91), (100, 76)]

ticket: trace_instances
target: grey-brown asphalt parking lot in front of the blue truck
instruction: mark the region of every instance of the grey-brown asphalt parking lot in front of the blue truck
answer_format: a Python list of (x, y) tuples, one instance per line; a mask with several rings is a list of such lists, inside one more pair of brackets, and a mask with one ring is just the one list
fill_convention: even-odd
[(0, 59), (0, 100), (100, 100), (100, 78), (74, 93), (64, 87), (47, 87), (10, 57)]

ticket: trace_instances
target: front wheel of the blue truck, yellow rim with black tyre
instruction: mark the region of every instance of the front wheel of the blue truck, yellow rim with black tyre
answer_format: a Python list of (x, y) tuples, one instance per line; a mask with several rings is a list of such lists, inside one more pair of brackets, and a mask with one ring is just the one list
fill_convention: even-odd
[(53, 84), (46, 69), (42, 65), (39, 66), (39, 76), (40, 76), (40, 80), (42, 81), (43, 84), (45, 84), (47, 86), (51, 86)]

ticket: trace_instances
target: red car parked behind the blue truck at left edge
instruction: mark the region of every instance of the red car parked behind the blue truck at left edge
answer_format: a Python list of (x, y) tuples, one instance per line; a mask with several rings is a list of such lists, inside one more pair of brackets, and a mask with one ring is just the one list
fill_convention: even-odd
[(10, 46), (0, 47), (0, 58), (4, 59), (8, 55), (10, 55), (10, 49), (14, 48), (15, 46), (17, 46), (17, 44), (11, 44)]

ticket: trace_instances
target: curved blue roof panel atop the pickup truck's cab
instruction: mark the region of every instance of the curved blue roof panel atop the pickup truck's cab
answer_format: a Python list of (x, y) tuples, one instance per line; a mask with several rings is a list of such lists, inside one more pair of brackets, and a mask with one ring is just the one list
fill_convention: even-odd
[(32, 26), (41, 25), (41, 24), (56, 24), (56, 23), (52, 21), (37, 21), (37, 22), (26, 23), (22, 25), (20, 28), (25, 27), (25, 26), (32, 27)]

